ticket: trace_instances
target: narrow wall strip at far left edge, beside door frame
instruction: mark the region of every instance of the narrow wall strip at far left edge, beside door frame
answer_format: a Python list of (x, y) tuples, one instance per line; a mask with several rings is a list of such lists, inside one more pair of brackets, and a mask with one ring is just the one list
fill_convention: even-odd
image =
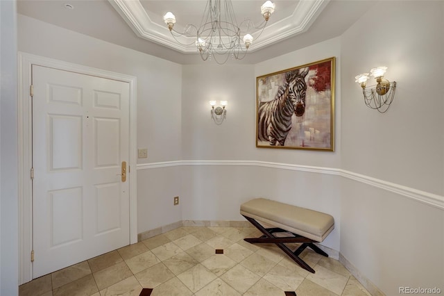
[(17, 20), (0, 1), (0, 295), (18, 294)]

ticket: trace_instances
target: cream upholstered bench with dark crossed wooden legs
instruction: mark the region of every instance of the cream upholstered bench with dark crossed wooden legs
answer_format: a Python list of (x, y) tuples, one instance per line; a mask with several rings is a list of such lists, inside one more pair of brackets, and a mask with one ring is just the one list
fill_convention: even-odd
[[(314, 242), (322, 242), (334, 229), (334, 219), (331, 215), (264, 198), (252, 199), (241, 204), (241, 215), (264, 233), (259, 238), (245, 238), (246, 242), (274, 243), (300, 267), (313, 273), (313, 268), (299, 258), (299, 254), (309, 247), (314, 252), (328, 257), (328, 254), (314, 245)], [(258, 221), (273, 228), (264, 228)], [(273, 233), (287, 233), (287, 235), (275, 236)], [(284, 245), (289, 242), (302, 242), (302, 245), (293, 252)]]

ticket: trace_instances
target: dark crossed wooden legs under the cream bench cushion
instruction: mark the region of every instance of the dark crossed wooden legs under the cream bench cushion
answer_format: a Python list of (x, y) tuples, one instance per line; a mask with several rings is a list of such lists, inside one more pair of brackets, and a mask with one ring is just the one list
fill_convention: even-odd
[[(285, 254), (287, 254), (291, 259), (293, 259), (293, 261), (298, 263), (298, 265), (300, 265), (301, 268), (304, 268), (305, 270), (308, 270), (309, 272), (312, 272), (312, 273), (315, 273), (314, 269), (311, 268), (307, 263), (305, 263), (305, 261), (303, 261), (301, 258), (299, 258), (300, 253), (302, 253), (302, 251), (304, 251), (304, 249), (309, 247), (314, 252), (316, 252), (318, 254), (321, 254), (321, 255), (323, 255), (325, 257), (328, 257), (327, 253), (323, 252), (322, 249), (320, 249), (318, 246), (314, 245), (313, 242), (315, 242), (316, 240), (311, 240), (309, 238), (305, 238), (304, 236), (298, 236), (295, 233), (291, 233), (289, 231), (285, 231), (285, 230), (280, 229), (280, 228), (269, 228), (269, 229), (266, 229), (261, 224), (259, 224), (256, 220), (254, 220), (253, 218), (246, 217), (246, 216), (244, 216), (244, 217), (251, 224), (253, 224), (257, 229), (259, 229), (259, 231), (264, 233), (264, 235), (261, 236), (260, 238), (244, 238), (244, 240), (246, 242), (250, 242), (250, 243), (253, 243), (253, 244), (254, 243), (274, 243), (280, 249), (282, 249), (282, 251), (284, 251)], [(273, 233), (278, 233), (278, 232), (289, 232), (294, 237), (283, 237), (283, 238), (280, 238), (280, 237), (273, 236)], [(300, 245), (300, 247), (298, 247), (298, 249), (296, 249), (296, 251), (293, 252), (293, 251), (291, 251), (291, 249), (289, 249), (289, 247), (284, 245), (284, 243), (288, 243), (288, 242), (302, 242), (302, 245)]]

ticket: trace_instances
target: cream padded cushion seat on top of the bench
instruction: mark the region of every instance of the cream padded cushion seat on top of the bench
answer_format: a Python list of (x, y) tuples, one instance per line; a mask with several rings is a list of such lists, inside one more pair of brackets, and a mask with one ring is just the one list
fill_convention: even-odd
[(241, 204), (241, 215), (317, 242), (322, 242), (334, 229), (332, 215), (264, 198)]

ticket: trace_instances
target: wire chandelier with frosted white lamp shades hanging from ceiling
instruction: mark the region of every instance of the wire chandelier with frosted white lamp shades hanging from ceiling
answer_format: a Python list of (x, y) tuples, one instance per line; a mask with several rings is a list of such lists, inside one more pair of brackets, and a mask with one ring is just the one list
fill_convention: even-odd
[[(259, 32), (256, 36), (259, 38), (274, 11), (275, 4), (266, 1), (261, 6), (264, 16), (261, 24), (255, 26), (250, 19), (246, 19), (238, 25), (231, 0), (208, 0), (199, 27), (187, 24), (182, 32), (176, 31), (176, 17), (171, 12), (164, 15), (164, 22), (176, 42), (183, 45), (196, 44), (200, 58), (214, 59), (216, 63), (224, 64), (230, 57), (241, 60), (246, 56), (254, 40), (250, 33)], [(178, 40), (180, 36), (192, 37), (194, 40), (190, 44), (184, 44)]]

